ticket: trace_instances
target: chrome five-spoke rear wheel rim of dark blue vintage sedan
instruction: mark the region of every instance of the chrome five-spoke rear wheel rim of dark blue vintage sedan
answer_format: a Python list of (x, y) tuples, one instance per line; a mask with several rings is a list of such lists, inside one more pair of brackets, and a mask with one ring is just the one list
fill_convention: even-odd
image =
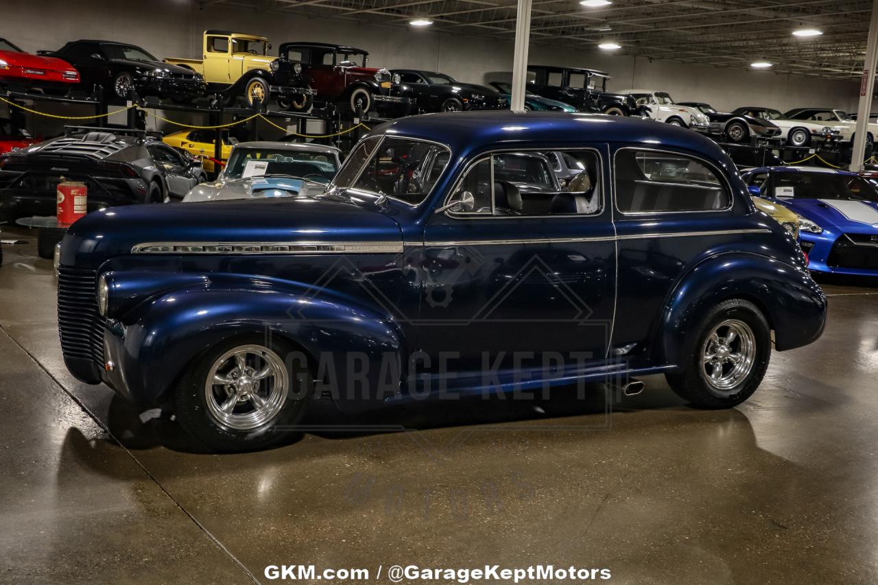
[(736, 388), (752, 371), (756, 338), (744, 321), (722, 321), (710, 332), (702, 348), (704, 379), (720, 392)]

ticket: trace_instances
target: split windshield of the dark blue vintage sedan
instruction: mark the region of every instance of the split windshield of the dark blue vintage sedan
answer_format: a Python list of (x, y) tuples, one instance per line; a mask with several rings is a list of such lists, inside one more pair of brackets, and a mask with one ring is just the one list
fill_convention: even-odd
[(399, 199), (416, 205), (427, 198), (450, 160), (448, 148), (409, 138), (387, 136), (361, 142), (333, 184)]

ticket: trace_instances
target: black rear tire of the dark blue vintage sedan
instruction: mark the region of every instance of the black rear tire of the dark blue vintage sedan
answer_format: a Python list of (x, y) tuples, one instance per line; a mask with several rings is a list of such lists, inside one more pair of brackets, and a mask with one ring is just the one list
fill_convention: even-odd
[[(733, 327), (740, 328), (738, 330), (744, 333), (744, 335), (739, 333), (728, 343), (730, 353), (719, 349), (719, 345), (723, 343), (716, 344), (711, 341), (712, 334), (723, 332), (723, 323), (732, 323)], [(744, 327), (741, 327), (742, 323)], [(752, 350), (745, 350), (748, 343), (746, 330), (749, 330), (751, 335), (749, 343), (752, 343)], [(730, 331), (728, 326), (725, 331)], [(684, 371), (665, 375), (673, 391), (698, 408), (732, 408), (750, 398), (765, 377), (768, 361), (771, 358), (771, 328), (765, 315), (759, 311), (759, 307), (749, 300), (723, 300), (702, 318), (692, 338), (694, 343), (686, 348), (688, 360), (683, 365)], [(717, 338), (722, 342), (728, 338), (728, 334)], [(722, 378), (718, 381), (727, 382), (729, 385), (721, 389), (715, 382), (709, 381), (707, 368), (710, 367), (712, 374), (716, 372), (716, 365), (713, 361), (704, 361), (704, 357), (711, 355), (711, 351), (715, 358), (736, 354), (738, 357), (749, 356), (749, 369), (741, 370), (738, 372), (738, 377), (735, 377), (733, 372), (738, 368), (737, 364), (728, 362), (720, 365), (719, 372)], [(747, 363), (747, 361), (742, 359), (738, 363)], [(726, 367), (729, 368), (728, 371)]]

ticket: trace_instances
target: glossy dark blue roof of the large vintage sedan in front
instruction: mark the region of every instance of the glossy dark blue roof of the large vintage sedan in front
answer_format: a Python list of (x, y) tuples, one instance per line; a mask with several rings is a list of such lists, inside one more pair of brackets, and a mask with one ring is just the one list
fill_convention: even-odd
[[(609, 126), (609, 127), (608, 127)], [(447, 144), (455, 154), (514, 143), (629, 142), (643, 146), (686, 148), (723, 161), (716, 142), (671, 124), (628, 116), (567, 112), (453, 112), (394, 119), (372, 134), (399, 134)]]

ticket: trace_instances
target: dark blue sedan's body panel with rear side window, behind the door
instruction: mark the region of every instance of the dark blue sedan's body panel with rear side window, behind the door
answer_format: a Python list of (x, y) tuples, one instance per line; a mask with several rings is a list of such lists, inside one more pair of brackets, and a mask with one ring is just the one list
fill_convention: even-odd
[(733, 199), (723, 170), (673, 149), (615, 149), (619, 295), (613, 348), (644, 358), (680, 278), (717, 245), (747, 235), (729, 230)]

